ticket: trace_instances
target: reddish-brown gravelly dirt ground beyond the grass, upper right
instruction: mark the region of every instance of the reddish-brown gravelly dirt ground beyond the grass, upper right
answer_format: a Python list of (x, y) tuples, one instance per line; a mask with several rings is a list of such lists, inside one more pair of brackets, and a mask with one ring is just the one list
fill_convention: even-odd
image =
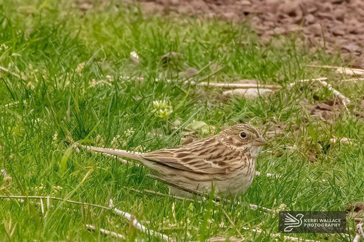
[[(311, 46), (340, 48), (353, 67), (364, 69), (362, 0), (140, 0), (143, 12), (205, 15), (247, 20), (262, 37), (303, 33)], [(324, 38), (323, 38), (324, 37)]]

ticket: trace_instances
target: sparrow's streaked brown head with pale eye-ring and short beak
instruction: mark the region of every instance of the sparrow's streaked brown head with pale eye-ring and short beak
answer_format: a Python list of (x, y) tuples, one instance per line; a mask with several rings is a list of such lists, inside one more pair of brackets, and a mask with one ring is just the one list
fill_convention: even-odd
[(249, 124), (230, 126), (221, 131), (218, 136), (229, 147), (249, 152), (253, 156), (258, 156), (262, 146), (267, 144), (259, 130)]

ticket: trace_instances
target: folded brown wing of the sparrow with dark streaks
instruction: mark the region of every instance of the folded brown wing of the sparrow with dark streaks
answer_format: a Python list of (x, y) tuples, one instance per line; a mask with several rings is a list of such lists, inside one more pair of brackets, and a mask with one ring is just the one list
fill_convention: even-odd
[(218, 144), (215, 139), (207, 138), (185, 146), (152, 151), (141, 157), (185, 171), (222, 175), (228, 169), (227, 163), (223, 161), (228, 153), (229, 151), (221, 148), (221, 144)]

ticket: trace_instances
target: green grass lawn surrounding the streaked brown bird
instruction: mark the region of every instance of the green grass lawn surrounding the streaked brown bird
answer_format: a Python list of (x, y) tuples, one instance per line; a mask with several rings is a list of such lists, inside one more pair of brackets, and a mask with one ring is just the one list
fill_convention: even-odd
[[(177, 241), (238, 237), (223, 210), (246, 241), (273, 241), (271, 234), (278, 233), (277, 213), (265, 215), (250, 210), (246, 203), (272, 209), (285, 204), (299, 211), (345, 210), (345, 204), (363, 201), (363, 124), (350, 114), (357, 110), (364, 85), (336, 85), (340, 76), (331, 70), (306, 67), (312, 62), (342, 65), (339, 54), (328, 55), (321, 48), (310, 52), (299, 36), (276, 36), (265, 42), (245, 24), (143, 16), (137, 7), (124, 4), (109, 4), (83, 15), (74, 5), (0, 0), (0, 44), (6, 46), (0, 50), (0, 65), (22, 77), (1, 71), (0, 168), (12, 178), (0, 176), (1, 195), (50, 195), (103, 206), (112, 198), (116, 208)], [(139, 63), (131, 60), (132, 51), (138, 53)], [(172, 51), (178, 56), (163, 62), (161, 56)], [(222, 70), (210, 76), (214, 72), (206, 67), (210, 62)], [(83, 68), (77, 68), (80, 63), (85, 63)], [(191, 78), (197, 83), (257, 79), (284, 87), (268, 98), (220, 102), (214, 98), (220, 90), (196, 87), (179, 77), (188, 67), (206, 67)], [(352, 104), (332, 124), (318, 120), (318, 126), (312, 126), (311, 117), (309, 123), (302, 122), (306, 107), (300, 101), (306, 98), (313, 103), (314, 96), (325, 101), (333, 94), (324, 87), (286, 85), (323, 76)], [(153, 101), (157, 100), (166, 100), (173, 109), (167, 120), (155, 114)], [(19, 103), (5, 107), (14, 102)], [(284, 135), (270, 139), (266, 147), (281, 156), (265, 152), (257, 161), (258, 171), (281, 177), (256, 176), (239, 198), (246, 203), (240, 205), (209, 200), (199, 204), (133, 191), (169, 192), (165, 184), (146, 176), (147, 168), (133, 161), (126, 165), (86, 151), (73, 151), (68, 159), (64, 155), (70, 142), (80, 140), (141, 152), (175, 146), (186, 135), (183, 128), (194, 121), (216, 127), (209, 129), (211, 133), (238, 122), (262, 131), (268, 129), (268, 122), (283, 122)], [(333, 136), (356, 141), (330, 144)], [(323, 148), (317, 148), (318, 144)], [(318, 159), (311, 163), (307, 151), (314, 149)], [(89, 167), (94, 172), (82, 182)], [(317, 181), (321, 179), (328, 181)], [(107, 210), (51, 200), (51, 207), (42, 213), (36, 205), (39, 200), (0, 199), (3, 241), (116, 240), (88, 231), (86, 224), (123, 234), (130, 241), (160, 240)], [(348, 227), (353, 227), (352, 220)], [(291, 236), (349, 241), (342, 235)], [(283, 241), (283, 237), (277, 239)]]

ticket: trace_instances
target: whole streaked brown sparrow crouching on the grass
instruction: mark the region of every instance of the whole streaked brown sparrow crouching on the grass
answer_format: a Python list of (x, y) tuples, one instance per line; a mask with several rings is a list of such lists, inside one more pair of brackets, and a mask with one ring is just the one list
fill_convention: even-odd
[[(219, 196), (236, 198), (252, 184), (255, 162), (265, 144), (256, 127), (237, 124), (187, 145), (144, 154), (98, 147), (88, 149), (139, 160), (163, 179), (201, 192), (211, 192), (213, 183)], [(173, 187), (171, 192), (185, 195)]]

